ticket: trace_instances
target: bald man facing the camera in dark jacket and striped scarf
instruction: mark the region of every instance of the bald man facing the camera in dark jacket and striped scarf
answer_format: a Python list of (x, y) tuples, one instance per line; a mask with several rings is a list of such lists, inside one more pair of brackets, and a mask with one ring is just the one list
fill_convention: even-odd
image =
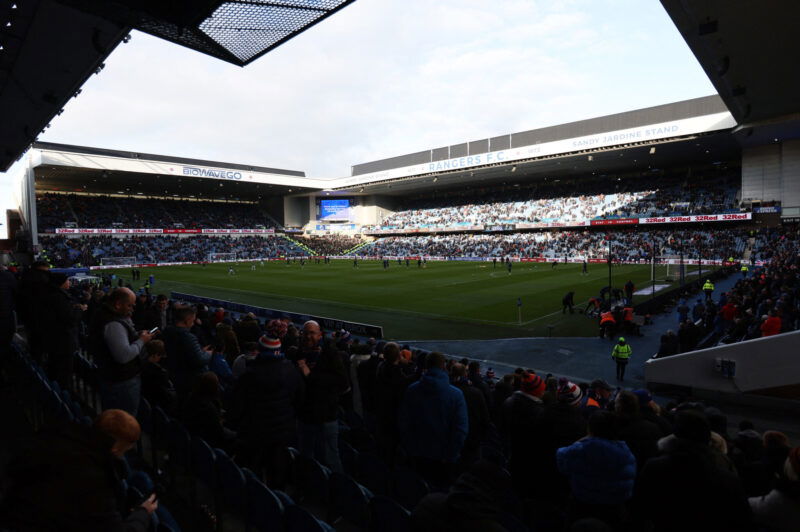
[[(316, 328), (318, 330), (319, 325)], [(313, 337), (317, 337), (313, 330), (311, 333)], [(320, 338), (321, 334), (320, 332)], [(305, 399), (297, 416), (300, 420), (300, 452), (341, 473), (343, 469), (339, 458), (337, 415), (339, 397), (348, 388), (342, 358), (330, 342), (320, 349), (319, 354), (312, 348), (304, 351), (301, 356), (316, 356), (316, 362), (313, 362), (313, 368), (310, 367), (312, 362), (306, 358), (299, 359), (297, 364), (305, 376), (306, 384)]]

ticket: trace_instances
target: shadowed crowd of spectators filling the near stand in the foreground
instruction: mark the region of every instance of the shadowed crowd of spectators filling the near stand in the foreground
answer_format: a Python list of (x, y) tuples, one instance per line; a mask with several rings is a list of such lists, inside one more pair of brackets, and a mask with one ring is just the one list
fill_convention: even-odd
[[(760, 300), (782, 291), (785, 283), (767, 279), (784, 279), (795, 263), (777, 248), (763, 286), (754, 286), (761, 277), (740, 283), (743, 294), (757, 289), (754, 300)], [(369, 449), (386, 471), (410, 469), (433, 491), (409, 508), (414, 530), (499, 531), (511, 526), (509, 519), (542, 531), (666, 532), (698, 524), (796, 530), (800, 448), (748, 421), (731, 430), (719, 409), (703, 403), (657, 403), (644, 389), (614, 389), (601, 379), (576, 383), (524, 368), (498, 376), (476, 361), (357, 341), (313, 321), (264, 322), (136, 296), (128, 288), (71, 287), (41, 263), (23, 275), (18, 291), (29, 338), (41, 340), (57, 325), (97, 364), (106, 413), (91, 430), (117, 434), (104, 428), (109, 416), (131, 427), (125, 438), (95, 434), (86, 441), (69, 427), (43, 433), (27, 453), (68, 456), (62, 453), (68, 445), (78, 449), (76, 456), (89, 456), (82, 446), (110, 454), (84, 459), (81, 468), (51, 458), (48, 472), (68, 470), (74, 478), (37, 476), (36, 489), (31, 475), (41, 469), (30, 468), (41, 462), (12, 461), (0, 506), (0, 524), (12, 528), (49, 524), (57, 507), (59, 519), (98, 529), (91, 523), (96, 515), (80, 514), (85, 504), (70, 508), (60, 497), (41, 495), (54, 486), (106, 482), (92, 475), (135, 446), (132, 416), (144, 397), (273, 489), (291, 488), (277, 458), (287, 446), (337, 473), (357, 474), (347, 469), (344, 445)], [(48, 310), (56, 299), (69, 317)], [(153, 327), (160, 333), (148, 332)], [(65, 350), (39, 341), (31, 353), (48, 375), (69, 383), (70, 368), (58, 360)], [(340, 427), (347, 430), (340, 434)], [(113, 493), (91, 493), (94, 501), (113, 500)], [(148, 501), (130, 513), (128, 529), (146, 522), (156, 505)]]

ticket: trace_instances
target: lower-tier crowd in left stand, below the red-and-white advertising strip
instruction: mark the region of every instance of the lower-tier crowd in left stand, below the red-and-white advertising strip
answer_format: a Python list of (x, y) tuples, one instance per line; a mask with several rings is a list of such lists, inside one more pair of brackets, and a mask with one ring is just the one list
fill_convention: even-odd
[(42, 235), (40, 255), (55, 267), (96, 266), (103, 258), (129, 257), (133, 263), (198, 262), (212, 253), (237, 260), (278, 258), (306, 252), (281, 236), (85, 236)]

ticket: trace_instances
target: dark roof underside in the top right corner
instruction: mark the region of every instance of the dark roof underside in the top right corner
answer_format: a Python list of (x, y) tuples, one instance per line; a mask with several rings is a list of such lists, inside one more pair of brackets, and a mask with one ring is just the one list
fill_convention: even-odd
[(661, 3), (739, 124), (796, 120), (800, 2)]

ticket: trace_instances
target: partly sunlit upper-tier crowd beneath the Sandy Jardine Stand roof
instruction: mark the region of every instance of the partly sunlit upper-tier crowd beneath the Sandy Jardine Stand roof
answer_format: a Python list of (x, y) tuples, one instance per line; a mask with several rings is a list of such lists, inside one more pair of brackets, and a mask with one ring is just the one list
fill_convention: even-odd
[[(578, 222), (599, 218), (694, 215), (738, 211), (739, 180), (659, 178), (545, 181), (411, 197), (367, 229)], [(579, 193), (576, 193), (579, 191)]]

